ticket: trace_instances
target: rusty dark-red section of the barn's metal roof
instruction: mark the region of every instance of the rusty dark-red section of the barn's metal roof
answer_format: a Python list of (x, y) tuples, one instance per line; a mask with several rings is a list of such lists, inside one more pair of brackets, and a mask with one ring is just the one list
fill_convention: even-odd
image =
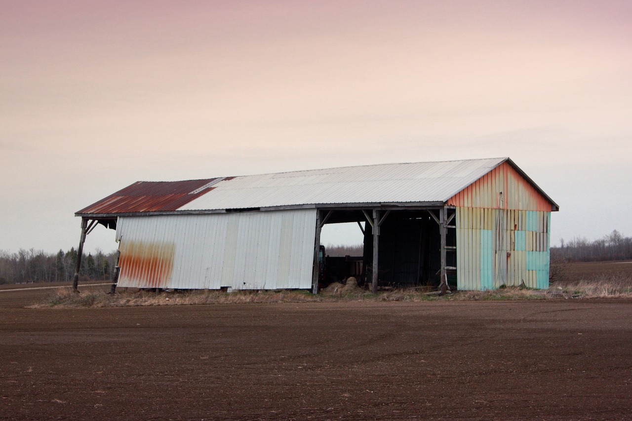
[(77, 214), (122, 214), (177, 210), (202, 196), (221, 178), (185, 181), (137, 181), (76, 212)]

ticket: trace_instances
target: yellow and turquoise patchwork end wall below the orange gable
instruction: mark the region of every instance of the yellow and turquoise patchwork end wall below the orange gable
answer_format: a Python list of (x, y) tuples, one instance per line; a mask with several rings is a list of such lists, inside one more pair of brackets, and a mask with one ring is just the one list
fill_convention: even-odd
[(456, 208), (459, 290), (549, 288), (550, 212)]

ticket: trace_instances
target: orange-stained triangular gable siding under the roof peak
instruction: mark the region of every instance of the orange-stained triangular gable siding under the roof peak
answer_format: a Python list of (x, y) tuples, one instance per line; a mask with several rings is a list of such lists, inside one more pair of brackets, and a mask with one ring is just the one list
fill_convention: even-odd
[(492, 169), (461, 192), (447, 200), (458, 207), (520, 209), (550, 212), (552, 204), (509, 162)]

